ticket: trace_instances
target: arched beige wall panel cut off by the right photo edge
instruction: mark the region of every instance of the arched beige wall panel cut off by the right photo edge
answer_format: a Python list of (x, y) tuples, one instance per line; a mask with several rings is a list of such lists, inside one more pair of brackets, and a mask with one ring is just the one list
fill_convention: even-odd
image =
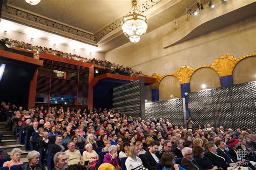
[(238, 62), (232, 75), (234, 84), (256, 81), (256, 56)]

